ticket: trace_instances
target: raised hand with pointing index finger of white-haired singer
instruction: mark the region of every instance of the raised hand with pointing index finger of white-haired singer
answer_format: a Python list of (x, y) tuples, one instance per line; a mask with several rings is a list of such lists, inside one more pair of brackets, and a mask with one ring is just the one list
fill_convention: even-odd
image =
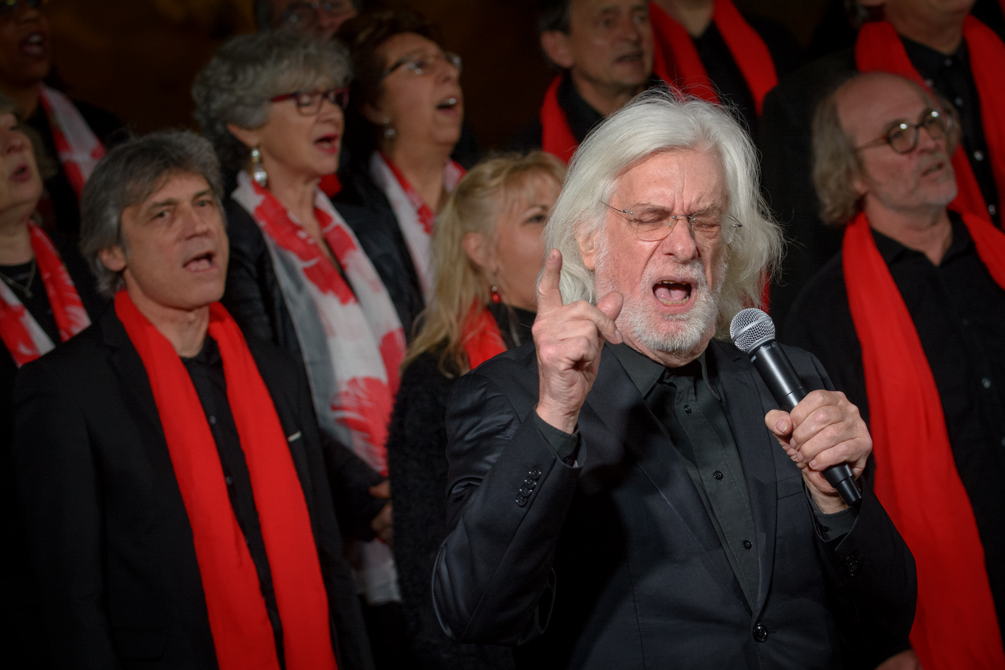
[(567, 433), (575, 432), (579, 411), (593, 387), (604, 340), (618, 344), (614, 324), (621, 293), (611, 291), (594, 306), (586, 300), (562, 303), (559, 277), (562, 252), (552, 249), (538, 281), (538, 317), (534, 344), (538, 351), (538, 415)]

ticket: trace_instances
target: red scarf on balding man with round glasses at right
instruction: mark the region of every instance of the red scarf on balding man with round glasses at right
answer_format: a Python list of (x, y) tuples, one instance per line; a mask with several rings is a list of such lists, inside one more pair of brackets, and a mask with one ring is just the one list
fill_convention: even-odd
[[(1005, 234), (977, 216), (963, 220), (991, 276), (1005, 287)], [(918, 567), (912, 646), (926, 670), (1003, 668), (984, 547), (939, 390), (864, 213), (845, 229), (843, 263), (862, 346), (875, 492)]]

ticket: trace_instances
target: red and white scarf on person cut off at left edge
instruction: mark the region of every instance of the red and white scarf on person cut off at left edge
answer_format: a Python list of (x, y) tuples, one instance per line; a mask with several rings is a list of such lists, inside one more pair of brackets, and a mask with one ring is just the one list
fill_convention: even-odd
[[(52, 241), (34, 223), (28, 224), (28, 232), (38, 264), (37, 271), (59, 328), (59, 340), (66, 342), (90, 325), (90, 319)], [(0, 284), (0, 340), (3, 340), (18, 368), (53, 347), (49, 337), (6, 284)]]

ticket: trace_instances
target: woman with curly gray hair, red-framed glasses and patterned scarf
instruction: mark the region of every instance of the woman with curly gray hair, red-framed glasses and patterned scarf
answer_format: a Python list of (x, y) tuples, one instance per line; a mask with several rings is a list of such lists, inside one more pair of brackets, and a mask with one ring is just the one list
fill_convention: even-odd
[[(232, 175), (224, 305), (246, 334), (301, 357), (322, 428), (386, 475), (405, 336), (380, 276), (320, 187), (338, 168), (348, 77), (337, 42), (265, 31), (220, 47), (192, 94)], [(371, 493), (386, 498), (387, 484)], [(363, 517), (373, 522), (356, 533), (368, 541), (357, 545), (354, 568), (371, 605), (394, 602), (390, 509)]]

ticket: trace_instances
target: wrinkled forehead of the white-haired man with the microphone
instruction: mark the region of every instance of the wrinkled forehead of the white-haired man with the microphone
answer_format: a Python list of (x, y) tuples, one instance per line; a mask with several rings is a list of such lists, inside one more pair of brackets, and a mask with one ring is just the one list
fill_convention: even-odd
[(650, 154), (614, 182), (619, 206), (648, 204), (680, 214), (725, 207), (726, 171), (714, 149), (676, 149)]

